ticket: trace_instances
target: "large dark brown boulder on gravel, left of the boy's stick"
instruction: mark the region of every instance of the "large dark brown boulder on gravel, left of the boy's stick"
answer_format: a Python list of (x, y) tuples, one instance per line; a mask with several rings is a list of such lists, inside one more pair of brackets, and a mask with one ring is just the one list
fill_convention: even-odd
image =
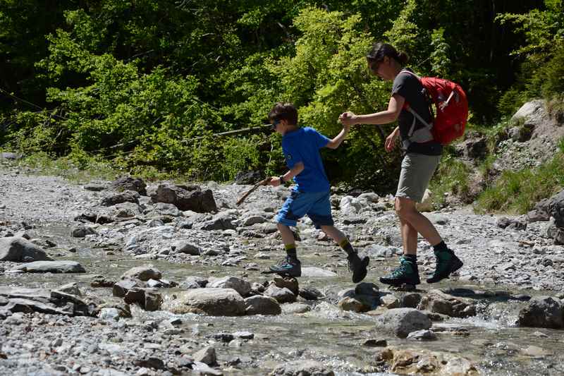
[(217, 205), (212, 190), (200, 190), (197, 186), (174, 186), (161, 184), (151, 195), (153, 202), (173, 204), (178, 209), (192, 210), (192, 212), (217, 212)]

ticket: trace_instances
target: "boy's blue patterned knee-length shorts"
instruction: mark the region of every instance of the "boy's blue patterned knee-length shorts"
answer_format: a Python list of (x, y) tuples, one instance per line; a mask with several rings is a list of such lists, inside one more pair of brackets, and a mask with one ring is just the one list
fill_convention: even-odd
[(290, 197), (286, 199), (281, 210), (276, 214), (276, 222), (286, 226), (295, 226), (298, 219), (307, 214), (316, 229), (319, 229), (320, 226), (333, 226), (330, 197), (329, 190), (326, 192), (292, 190)]

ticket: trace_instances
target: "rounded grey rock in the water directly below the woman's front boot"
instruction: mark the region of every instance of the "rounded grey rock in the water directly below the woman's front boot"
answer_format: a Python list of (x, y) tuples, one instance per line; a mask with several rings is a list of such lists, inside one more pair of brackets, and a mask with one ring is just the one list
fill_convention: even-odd
[(431, 320), (429, 317), (414, 308), (394, 308), (376, 319), (376, 325), (393, 332), (400, 338), (417, 330), (429, 329)]

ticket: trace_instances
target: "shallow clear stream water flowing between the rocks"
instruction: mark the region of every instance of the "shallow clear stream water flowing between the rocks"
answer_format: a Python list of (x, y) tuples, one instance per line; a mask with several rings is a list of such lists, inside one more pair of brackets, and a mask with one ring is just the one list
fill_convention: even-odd
[[(51, 226), (44, 229), (52, 236), (59, 247), (71, 245), (68, 240), (68, 229), (65, 226)], [(66, 243), (67, 242), (67, 243)], [(76, 244), (75, 244), (76, 245)], [(108, 252), (92, 248), (84, 242), (78, 253), (71, 257), (87, 269), (88, 274), (4, 274), (0, 275), (0, 285), (26, 287), (55, 287), (70, 281), (77, 281), (87, 295), (96, 295), (111, 299), (111, 289), (92, 289), (90, 281), (94, 274), (101, 274), (106, 279), (116, 280), (130, 267), (146, 265), (150, 262), (161, 270), (164, 279), (182, 281), (187, 276), (222, 277), (235, 275), (245, 277), (247, 281), (263, 282), (267, 278), (256, 271), (242, 272), (240, 267), (219, 267), (217, 265), (176, 264), (164, 260), (135, 260), (133, 256), (121, 253), (121, 250)], [(313, 252), (303, 248), (302, 265), (331, 264), (335, 257), (332, 254)], [(112, 254), (115, 253), (115, 254)], [(329, 257), (328, 257), (329, 256)], [(252, 260), (262, 269), (273, 260)], [(376, 277), (387, 272), (396, 260), (373, 260), (367, 281), (376, 281)], [(346, 267), (337, 268), (338, 277), (302, 278), (300, 284), (312, 286), (320, 291), (333, 289), (339, 291), (350, 289), (349, 274)], [(243, 274), (245, 273), (245, 274)], [(419, 286), (421, 291), (429, 289), (429, 285)], [(507, 293), (519, 293), (514, 288), (503, 289), (503, 286), (484, 286), (482, 284), (462, 284), (456, 281), (443, 281), (434, 289), (471, 289), (473, 291), (489, 291), (474, 293), (474, 303), (478, 307), (478, 315), (467, 319), (450, 319), (434, 322), (432, 329), (438, 340), (414, 342), (398, 339), (394, 336), (378, 332), (374, 329), (374, 315), (343, 312), (334, 302), (307, 301), (312, 309), (302, 314), (282, 314), (278, 316), (245, 316), (245, 317), (209, 317), (202, 315), (172, 315), (164, 311), (145, 312), (133, 309), (135, 320), (163, 320), (169, 317), (180, 317), (184, 330), (181, 336), (188, 339), (209, 338), (213, 334), (252, 332), (254, 338), (243, 341), (241, 346), (233, 344), (216, 344), (219, 363), (233, 357), (240, 358), (239, 370), (232, 369), (226, 375), (266, 375), (276, 365), (284, 361), (299, 359), (319, 360), (331, 367), (336, 375), (391, 375), (376, 372), (381, 370), (376, 362), (376, 353), (381, 348), (362, 346), (367, 339), (386, 339), (388, 346), (443, 351), (468, 358), (479, 372), (484, 375), (564, 375), (564, 332), (552, 329), (520, 328), (515, 325), (517, 313), (522, 302), (507, 299)], [(380, 285), (381, 290), (385, 286)], [(170, 298), (180, 289), (163, 289), (166, 298)], [(493, 293), (496, 292), (497, 293)], [(505, 292), (505, 293), (504, 293)], [(531, 294), (532, 291), (522, 291)], [(534, 294), (544, 294), (534, 291)], [(162, 344), (166, 346), (166, 343)], [(538, 346), (544, 351), (534, 351)], [(529, 350), (527, 350), (527, 348)], [(533, 350), (531, 350), (533, 349)], [(195, 348), (197, 350), (197, 348)], [(257, 361), (259, 360), (259, 361)], [(247, 366), (248, 365), (248, 366)], [(358, 371), (361, 372), (358, 372)]]

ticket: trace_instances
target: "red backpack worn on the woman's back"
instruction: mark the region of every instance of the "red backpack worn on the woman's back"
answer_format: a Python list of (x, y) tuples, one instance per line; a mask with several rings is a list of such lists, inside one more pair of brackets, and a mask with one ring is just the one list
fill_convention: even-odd
[(414, 75), (421, 82), (429, 100), (431, 114), (433, 114), (433, 109), (430, 104), (435, 105), (436, 114), (431, 124), (424, 121), (417, 112), (413, 111), (409, 104), (404, 104), (404, 107), (431, 130), (436, 141), (441, 142), (442, 145), (447, 145), (453, 142), (455, 138), (459, 138), (464, 134), (468, 119), (468, 100), (466, 99), (466, 93), (460, 85), (443, 78), (419, 78), (419, 76), (410, 71), (401, 71), (400, 73)]

